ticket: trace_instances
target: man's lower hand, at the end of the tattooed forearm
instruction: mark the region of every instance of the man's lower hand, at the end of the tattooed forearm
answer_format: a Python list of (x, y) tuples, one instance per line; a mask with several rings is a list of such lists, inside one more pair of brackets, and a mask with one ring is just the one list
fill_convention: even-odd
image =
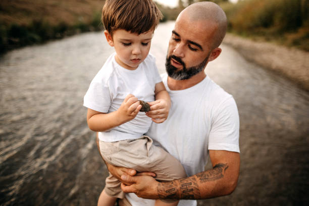
[[(145, 173), (144, 173), (145, 174)], [(122, 175), (122, 182), (129, 183), (126, 185), (121, 183), (121, 189), (126, 192), (134, 192), (138, 197), (146, 199), (158, 199), (158, 185), (159, 182), (151, 176), (148, 175)]]

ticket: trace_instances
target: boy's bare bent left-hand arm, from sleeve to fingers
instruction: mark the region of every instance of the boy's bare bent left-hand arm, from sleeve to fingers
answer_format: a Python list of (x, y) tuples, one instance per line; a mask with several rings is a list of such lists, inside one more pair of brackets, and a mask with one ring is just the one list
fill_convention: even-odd
[(88, 109), (87, 123), (91, 130), (104, 132), (134, 119), (140, 108), (138, 99), (129, 94), (115, 112), (107, 114)]

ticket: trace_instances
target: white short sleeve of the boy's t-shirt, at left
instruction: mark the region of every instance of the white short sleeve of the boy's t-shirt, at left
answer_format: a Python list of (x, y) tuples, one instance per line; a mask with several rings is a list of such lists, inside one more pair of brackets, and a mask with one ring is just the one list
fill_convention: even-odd
[(111, 105), (111, 92), (107, 84), (91, 82), (84, 96), (84, 106), (91, 110), (108, 113)]

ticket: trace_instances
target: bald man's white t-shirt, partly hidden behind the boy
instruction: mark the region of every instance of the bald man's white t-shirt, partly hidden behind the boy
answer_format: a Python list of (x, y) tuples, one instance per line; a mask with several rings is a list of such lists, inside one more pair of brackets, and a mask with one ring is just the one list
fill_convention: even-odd
[[(208, 76), (184, 90), (170, 90), (167, 74), (163, 83), (172, 100), (168, 119), (152, 124), (146, 135), (183, 165), (188, 176), (204, 171), (209, 149), (239, 152), (239, 115), (232, 95)], [(126, 195), (134, 206), (154, 205), (154, 200)], [(196, 205), (180, 200), (178, 205)]]

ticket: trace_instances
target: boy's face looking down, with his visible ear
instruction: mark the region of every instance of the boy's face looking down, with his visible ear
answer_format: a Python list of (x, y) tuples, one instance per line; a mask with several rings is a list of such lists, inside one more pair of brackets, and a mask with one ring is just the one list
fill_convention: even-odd
[(149, 53), (153, 31), (142, 34), (130, 33), (123, 29), (113, 32), (113, 37), (105, 31), (108, 43), (115, 47), (116, 62), (122, 67), (135, 70)]

